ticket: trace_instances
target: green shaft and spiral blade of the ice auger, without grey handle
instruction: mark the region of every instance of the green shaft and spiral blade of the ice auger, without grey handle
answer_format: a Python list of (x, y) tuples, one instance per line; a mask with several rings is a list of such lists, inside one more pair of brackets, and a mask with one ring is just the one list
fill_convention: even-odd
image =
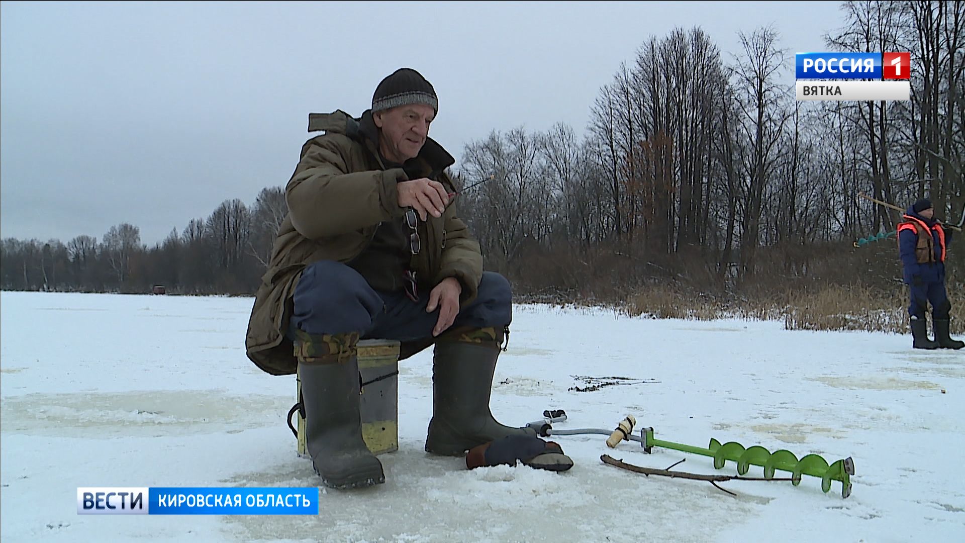
[(854, 461), (851, 460), (850, 456), (829, 466), (826, 460), (816, 454), (809, 454), (798, 460), (794, 453), (789, 450), (769, 452), (760, 445), (744, 448), (744, 445), (740, 443), (721, 444), (712, 438), (707, 448), (665, 442), (653, 437), (652, 427), (642, 429), (641, 434), (644, 452), (650, 452), (650, 449), (654, 446), (659, 446), (680, 452), (709, 456), (714, 459), (715, 470), (724, 468), (724, 464), (731, 460), (731, 462), (737, 463), (737, 474), (739, 475), (747, 473), (752, 465), (759, 466), (764, 469), (765, 479), (774, 478), (774, 472), (778, 470), (790, 472), (791, 484), (794, 486), (801, 484), (801, 475), (811, 475), (821, 478), (821, 490), (824, 492), (831, 490), (831, 481), (841, 481), (841, 498), (851, 496), (850, 476), (854, 474)]

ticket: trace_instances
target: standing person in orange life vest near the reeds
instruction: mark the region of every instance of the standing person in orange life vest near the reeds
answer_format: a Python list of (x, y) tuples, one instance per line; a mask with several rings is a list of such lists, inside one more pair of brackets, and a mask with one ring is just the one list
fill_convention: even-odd
[[(911, 331), (915, 349), (961, 349), (965, 343), (951, 339), (951, 301), (945, 292), (945, 255), (951, 229), (934, 218), (931, 202), (925, 198), (908, 208), (898, 224), (898, 252), (904, 282), (911, 287)], [(928, 339), (924, 313), (931, 302), (931, 324), (935, 340)]]

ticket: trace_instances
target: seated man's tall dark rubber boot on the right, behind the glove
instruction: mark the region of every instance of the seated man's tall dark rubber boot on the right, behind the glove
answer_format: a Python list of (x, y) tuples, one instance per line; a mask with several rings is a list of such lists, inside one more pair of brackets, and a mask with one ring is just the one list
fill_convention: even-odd
[(536, 436), (531, 428), (513, 428), (489, 411), (496, 359), (503, 334), (496, 329), (452, 329), (439, 336), (432, 357), (432, 419), (426, 450), (460, 456), (467, 450), (507, 436)]

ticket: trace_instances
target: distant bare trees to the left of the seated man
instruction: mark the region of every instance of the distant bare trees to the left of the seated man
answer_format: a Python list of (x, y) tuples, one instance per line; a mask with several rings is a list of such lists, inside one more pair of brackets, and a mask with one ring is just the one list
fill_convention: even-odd
[(192, 219), (161, 243), (141, 243), (137, 226), (112, 226), (98, 243), (8, 238), (0, 243), (4, 290), (248, 294), (258, 287), (275, 233), (288, 213), (280, 186), (264, 188), (252, 206), (226, 200), (207, 219)]

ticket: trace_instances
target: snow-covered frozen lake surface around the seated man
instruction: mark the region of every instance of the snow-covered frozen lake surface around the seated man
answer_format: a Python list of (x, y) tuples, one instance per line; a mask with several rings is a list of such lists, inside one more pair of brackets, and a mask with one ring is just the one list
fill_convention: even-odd
[[(852, 457), (853, 493), (820, 480), (721, 483), (709, 458), (604, 436), (554, 438), (569, 472), (487, 468), (423, 450), (431, 350), (400, 363), (400, 450), (386, 484), (319, 490), (318, 516), (77, 515), (82, 486), (317, 486), (285, 422), (294, 377), (244, 355), (253, 299), (2, 293), (0, 538), (8, 541), (962, 541), (965, 350), (910, 335), (786, 331), (519, 305), (492, 411), (565, 428), (625, 414), (656, 437)], [(575, 376), (651, 383), (586, 386)], [(943, 392), (944, 389), (944, 392)], [(760, 475), (751, 468), (748, 475)], [(786, 473), (779, 472), (779, 476)]]

